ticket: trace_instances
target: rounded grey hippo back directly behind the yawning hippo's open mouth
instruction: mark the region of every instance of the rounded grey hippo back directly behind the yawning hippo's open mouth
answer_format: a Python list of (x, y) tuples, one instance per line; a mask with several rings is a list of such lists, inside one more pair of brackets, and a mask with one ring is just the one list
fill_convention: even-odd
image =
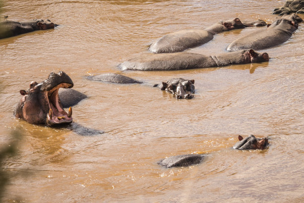
[(63, 108), (68, 108), (78, 104), (82, 99), (87, 96), (75, 89), (63, 89), (60, 88), (58, 91), (59, 99)]

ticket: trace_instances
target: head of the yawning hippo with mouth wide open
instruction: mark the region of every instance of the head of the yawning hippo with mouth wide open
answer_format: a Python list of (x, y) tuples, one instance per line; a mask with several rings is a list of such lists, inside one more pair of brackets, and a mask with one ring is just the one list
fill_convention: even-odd
[(41, 83), (32, 81), (27, 91), (20, 90), (22, 95), (14, 115), (30, 124), (58, 125), (72, 123), (72, 108), (65, 112), (58, 96), (59, 88), (72, 88), (72, 79), (63, 71), (51, 72)]

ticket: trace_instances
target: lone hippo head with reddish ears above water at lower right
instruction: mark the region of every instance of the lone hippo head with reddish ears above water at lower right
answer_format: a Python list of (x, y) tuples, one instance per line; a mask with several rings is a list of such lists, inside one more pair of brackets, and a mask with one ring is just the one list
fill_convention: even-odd
[(257, 138), (254, 135), (249, 135), (246, 138), (243, 138), (241, 135), (238, 135), (238, 140), (234, 144), (233, 149), (265, 149), (268, 146), (268, 138)]

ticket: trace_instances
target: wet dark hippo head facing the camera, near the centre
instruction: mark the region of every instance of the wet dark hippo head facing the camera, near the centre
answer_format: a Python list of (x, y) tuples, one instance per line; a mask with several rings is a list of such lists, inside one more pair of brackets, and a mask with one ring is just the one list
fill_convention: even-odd
[(172, 78), (167, 82), (155, 84), (153, 87), (168, 91), (175, 95), (177, 99), (192, 99), (195, 91), (194, 79)]

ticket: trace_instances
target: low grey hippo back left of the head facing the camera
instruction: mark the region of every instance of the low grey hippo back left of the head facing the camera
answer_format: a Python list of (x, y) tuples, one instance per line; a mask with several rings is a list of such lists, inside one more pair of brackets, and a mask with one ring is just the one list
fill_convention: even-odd
[(98, 80), (98, 81), (121, 83), (121, 84), (143, 83), (142, 81), (133, 79), (131, 77), (127, 77), (125, 75), (116, 74), (116, 73), (107, 73), (107, 74), (101, 74), (101, 75), (89, 75), (86, 78), (90, 79), (90, 80)]

